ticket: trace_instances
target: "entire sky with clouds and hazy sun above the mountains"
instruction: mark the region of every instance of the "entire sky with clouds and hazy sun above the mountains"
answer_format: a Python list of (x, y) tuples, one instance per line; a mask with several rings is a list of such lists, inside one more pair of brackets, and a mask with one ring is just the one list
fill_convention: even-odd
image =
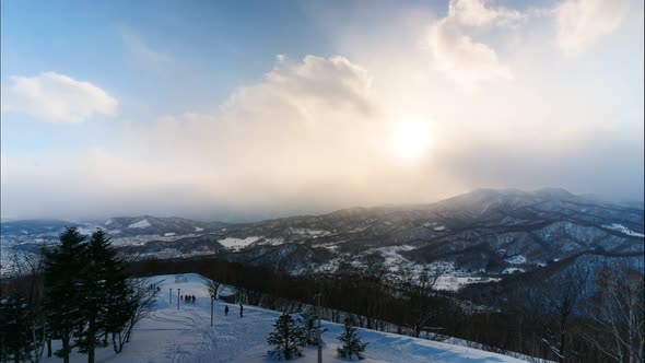
[(640, 0), (0, 5), (3, 219), (643, 200)]

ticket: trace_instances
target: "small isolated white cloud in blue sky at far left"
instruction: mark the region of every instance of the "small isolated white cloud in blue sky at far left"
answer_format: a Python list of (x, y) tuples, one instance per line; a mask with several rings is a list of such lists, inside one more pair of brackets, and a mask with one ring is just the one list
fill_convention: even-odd
[(11, 77), (2, 85), (2, 112), (26, 114), (50, 122), (82, 122), (112, 116), (118, 102), (98, 86), (55, 72)]

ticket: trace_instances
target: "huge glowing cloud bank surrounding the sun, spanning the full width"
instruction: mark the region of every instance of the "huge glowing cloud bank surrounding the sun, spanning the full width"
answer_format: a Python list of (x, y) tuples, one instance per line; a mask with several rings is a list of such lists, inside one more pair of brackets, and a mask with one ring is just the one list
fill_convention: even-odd
[[(642, 14), (617, 34), (618, 52), (563, 62), (543, 14), (384, 13), (388, 27), (339, 31), (342, 57), (278, 56), (220, 107), (110, 122), (102, 149), (3, 154), (3, 215), (259, 219), (482, 186), (642, 198)], [(429, 125), (426, 153), (402, 161), (392, 136), (417, 121)]]

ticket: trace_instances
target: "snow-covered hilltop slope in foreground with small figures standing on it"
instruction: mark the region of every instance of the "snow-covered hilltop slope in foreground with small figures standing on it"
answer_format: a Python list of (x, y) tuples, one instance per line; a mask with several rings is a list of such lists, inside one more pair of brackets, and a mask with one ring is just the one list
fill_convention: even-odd
[[(210, 326), (210, 297), (204, 278), (189, 273), (160, 276), (149, 279), (159, 282), (161, 293), (150, 317), (143, 319), (132, 332), (130, 343), (121, 354), (115, 354), (112, 347), (96, 352), (96, 362), (273, 362), (267, 358), (270, 347), (267, 337), (278, 312), (245, 306), (239, 317), (238, 305), (228, 304), (228, 316), (224, 316), (226, 303), (215, 301), (214, 326)], [(169, 303), (169, 289), (173, 300)], [(196, 304), (180, 303), (177, 311), (177, 289), (181, 294), (196, 295)], [(223, 294), (230, 293), (224, 291)], [(336, 358), (339, 346), (336, 337), (341, 326), (322, 321), (328, 329), (322, 335), (326, 341), (324, 362), (342, 362)], [(362, 362), (456, 362), (456, 363), (503, 363), (520, 360), (448, 343), (414, 339), (392, 333), (359, 329), (363, 341), (368, 342)], [(59, 342), (55, 342), (59, 343)], [(316, 349), (304, 349), (304, 356), (295, 362), (316, 362)], [(85, 362), (86, 355), (72, 354), (72, 362)], [(45, 362), (60, 362), (60, 359), (45, 359)]]

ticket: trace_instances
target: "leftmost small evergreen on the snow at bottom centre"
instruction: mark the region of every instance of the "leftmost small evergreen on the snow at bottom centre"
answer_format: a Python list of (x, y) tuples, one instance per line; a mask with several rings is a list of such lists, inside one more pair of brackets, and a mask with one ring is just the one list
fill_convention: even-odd
[(304, 342), (304, 331), (290, 314), (282, 314), (273, 324), (273, 331), (267, 339), (275, 348), (269, 352), (277, 359), (291, 360), (302, 355), (300, 346)]

